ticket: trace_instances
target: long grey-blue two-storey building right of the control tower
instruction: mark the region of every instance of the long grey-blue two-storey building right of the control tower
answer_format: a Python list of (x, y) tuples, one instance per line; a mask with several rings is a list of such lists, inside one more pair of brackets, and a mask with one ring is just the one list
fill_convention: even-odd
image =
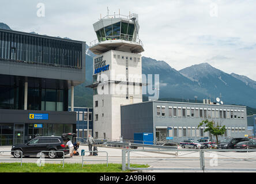
[(206, 127), (197, 128), (206, 119), (225, 125), (220, 139), (248, 134), (246, 106), (148, 101), (121, 106), (121, 135), (134, 140), (134, 133), (153, 133), (155, 141), (210, 138)]

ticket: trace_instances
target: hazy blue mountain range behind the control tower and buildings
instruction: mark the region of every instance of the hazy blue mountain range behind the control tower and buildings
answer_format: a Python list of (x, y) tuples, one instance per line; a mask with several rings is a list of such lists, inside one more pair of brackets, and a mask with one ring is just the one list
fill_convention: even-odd
[[(0, 28), (11, 30), (4, 23), (0, 23)], [(85, 86), (92, 83), (95, 54), (88, 48), (86, 45), (86, 81), (75, 87), (75, 106), (92, 106), (92, 89)], [(243, 75), (227, 74), (208, 63), (195, 64), (178, 71), (164, 61), (142, 57), (142, 74), (159, 74), (160, 99), (191, 101), (197, 97), (198, 101), (208, 98), (214, 102), (221, 95), (224, 104), (256, 108), (256, 81)], [(146, 96), (144, 99), (147, 99)]]

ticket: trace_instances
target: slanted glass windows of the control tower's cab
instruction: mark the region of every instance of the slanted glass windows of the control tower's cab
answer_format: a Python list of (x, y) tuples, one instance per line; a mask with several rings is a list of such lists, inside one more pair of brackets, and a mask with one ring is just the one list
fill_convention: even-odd
[(127, 22), (117, 22), (96, 31), (97, 39), (99, 42), (120, 39), (126, 41), (134, 41), (133, 34), (134, 24)]

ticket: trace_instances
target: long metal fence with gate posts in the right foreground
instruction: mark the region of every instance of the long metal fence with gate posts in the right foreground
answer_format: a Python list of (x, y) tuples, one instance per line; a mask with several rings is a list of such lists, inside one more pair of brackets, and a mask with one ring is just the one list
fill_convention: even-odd
[[(159, 150), (160, 152), (176, 152), (176, 156), (173, 156), (171, 158), (156, 158), (156, 157), (152, 157), (152, 158), (140, 158), (140, 159), (131, 159), (131, 152), (155, 152), (156, 150), (130, 150), (130, 149), (123, 149), (122, 150), (122, 170), (183, 170), (183, 171), (256, 171), (256, 164), (253, 164), (253, 167), (249, 168), (247, 167), (247, 162), (248, 163), (252, 163), (252, 162), (256, 162), (256, 154), (254, 155), (242, 155), (243, 158), (237, 158), (234, 156), (231, 156), (230, 154), (220, 154), (219, 152), (247, 152), (248, 153), (255, 153), (256, 149), (247, 149), (247, 150), (240, 150), (240, 149), (227, 149), (227, 150), (199, 150), (199, 149), (193, 149), (193, 150), (189, 150), (189, 149), (172, 149), (172, 150)], [(197, 155), (197, 157), (191, 157), (189, 156), (189, 158), (184, 158), (184, 157), (180, 157), (179, 156), (184, 156), (184, 155), (180, 155), (181, 152), (189, 152), (188, 154), (184, 154), (184, 155), (189, 155), (192, 153), (198, 153), (199, 155)], [(179, 154), (177, 154), (179, 153)], [(221, 156), (221, 158), (217, 158), (217, 156), (215, 156), (215, 158), (205, 158), (205, 153), (210, 153), (213, 155), (219, 155)], [(127, 165), (126, 165), (126, 154), (127, 154)], [(246, 154), (246, 153), (244, 153)], [(241, 155), (239, 155), (241, 156)], [(183, 164), (184, 161), (186, 160), (186, 162), (188, 162), (188, 160), (193, 159), (198, 161), (198, 166), (199, 167), (195, 167), (195, 166), (189, 166), (186, 164)], [(218, 162), (218, 160), (221, 159), (221, 166), (225, 166), (226, 164), (226, 168), (225, 167), (218, 167), (218, 165), (216, 166), (206, 166), (206, 161), (209, 162)], [(158, 161), (164, 161), (164, 163), (166, 164), (168, 161), (174, 162), (175, 164), (177, 164), (176, 166), (186, 166), (186, 167), (150, 167), (150, 168), (138, 168), (138, 167), (131, 167), (131, 161), (140, 161), (143, 162), (143, 160), (154, 160), (154, 162), (158, 162)], [(232, 168), (230, 166), (230, 164), (237, 164), (240, 161), (246, 162), (243, 163), (242, 166), (237, 166), (235, 168)], [(185, 162), (185, 163), (186, 163)], [(173, 165), (172, 165), (173, 166)], [(243, 168), (246, 167), (246, 168)]]

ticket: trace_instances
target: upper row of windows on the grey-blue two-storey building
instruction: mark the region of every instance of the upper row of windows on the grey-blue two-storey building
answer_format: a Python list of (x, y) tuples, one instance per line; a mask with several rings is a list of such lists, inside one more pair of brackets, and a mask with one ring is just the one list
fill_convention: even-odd
[(166, 114), (165, 106), (157, 106), (157, 116), (168, 117), (195, 117), (195, 118), (231, 118), (244, 119), (244, 110), (234, 109), (212, 109), (212, 108), (182, 108), (168, 107), (168, 115)]

